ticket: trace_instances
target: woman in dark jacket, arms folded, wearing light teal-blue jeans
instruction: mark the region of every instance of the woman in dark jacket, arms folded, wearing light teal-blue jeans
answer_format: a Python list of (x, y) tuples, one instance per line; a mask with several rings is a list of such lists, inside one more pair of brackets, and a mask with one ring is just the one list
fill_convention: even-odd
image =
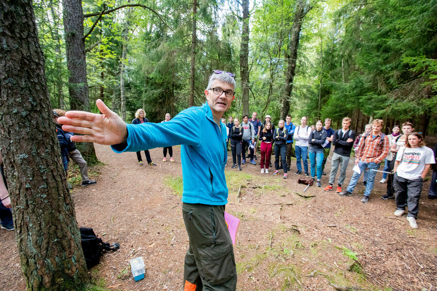
[(321, 120), (316, 122), (316, 129), (310, 132), (308, 137), (309, 158), (311, 163), (311, 177), (316, 176), (316, 163), (317, 163), (317, 186), (321, 187), (321, 175), (323, 173), (322, 163), (323, 163), (323, 146), (325, 144), (327, 133), (323, 130), (323, 123)]

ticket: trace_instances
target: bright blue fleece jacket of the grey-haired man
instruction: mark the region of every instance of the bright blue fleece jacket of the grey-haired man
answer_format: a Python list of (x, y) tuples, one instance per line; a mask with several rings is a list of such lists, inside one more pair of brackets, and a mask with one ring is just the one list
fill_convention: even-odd
[[(207, 103), (190, 107), (164, 123), (126, 124), (127, 146), (114, 145), (117, 152), (182, 145), (181, 162), (184, 191), (182, 202), (225, 205), (228, 187), (224, 165), (226, 126), (214, 122)], [(221, 129), (221, 132), (220, 132)]]

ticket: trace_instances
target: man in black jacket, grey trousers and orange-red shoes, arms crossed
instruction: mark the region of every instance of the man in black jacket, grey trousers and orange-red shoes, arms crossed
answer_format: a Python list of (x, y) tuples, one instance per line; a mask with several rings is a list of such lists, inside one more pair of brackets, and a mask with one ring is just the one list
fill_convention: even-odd
[(346, 169), (348, 168), (349, 159), (351, 157), (353, 143), (356, 133), (349, 129), (351, 125), (351, 118), (345, 117), (342, 121), (342, 128), (334, 131), (332, 145), (335, 146), (334, 154), (331, 160), (331, 174), (329, 174), (329, 185), (323, 190), (330, 191), (333, 189), (332, 185), (336, 179), (338, 165), (340, 166), (340, 177), (338, 177), (337, 193), (341, 193), (341, 185), (343, 185), (346, 177)]

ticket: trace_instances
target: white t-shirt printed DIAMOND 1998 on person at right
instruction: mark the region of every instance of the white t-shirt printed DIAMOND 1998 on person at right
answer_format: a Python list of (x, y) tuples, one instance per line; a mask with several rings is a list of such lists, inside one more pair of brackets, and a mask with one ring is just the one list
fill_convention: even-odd
[(401, 161), (396, 174), (408, 180), (418, 179), (422, 175), (425, 164), (436, 163), (433, 150), (427, 146), (415, 148), (403, 146), (396, 155), (396, 161)]

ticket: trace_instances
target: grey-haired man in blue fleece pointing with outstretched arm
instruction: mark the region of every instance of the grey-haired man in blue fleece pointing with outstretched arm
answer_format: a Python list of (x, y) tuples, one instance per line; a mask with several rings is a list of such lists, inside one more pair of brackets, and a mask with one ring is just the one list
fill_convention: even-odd
[(111, 145), (117, 153), (182, 145), (182, 213), (189, 238), (184, 290), (236, 289), (234, 249), (224, 219), (226, 129), (220, 122), (234, 90), (235, 75), (214, 70), (204, 91), (206, 102), (165, 123), (126, 124), (100, 99), (96, 104), (103, 114), (71, 111), (60, 117), (63, 129), (84, 134), (72, 136), (75, 142)]

